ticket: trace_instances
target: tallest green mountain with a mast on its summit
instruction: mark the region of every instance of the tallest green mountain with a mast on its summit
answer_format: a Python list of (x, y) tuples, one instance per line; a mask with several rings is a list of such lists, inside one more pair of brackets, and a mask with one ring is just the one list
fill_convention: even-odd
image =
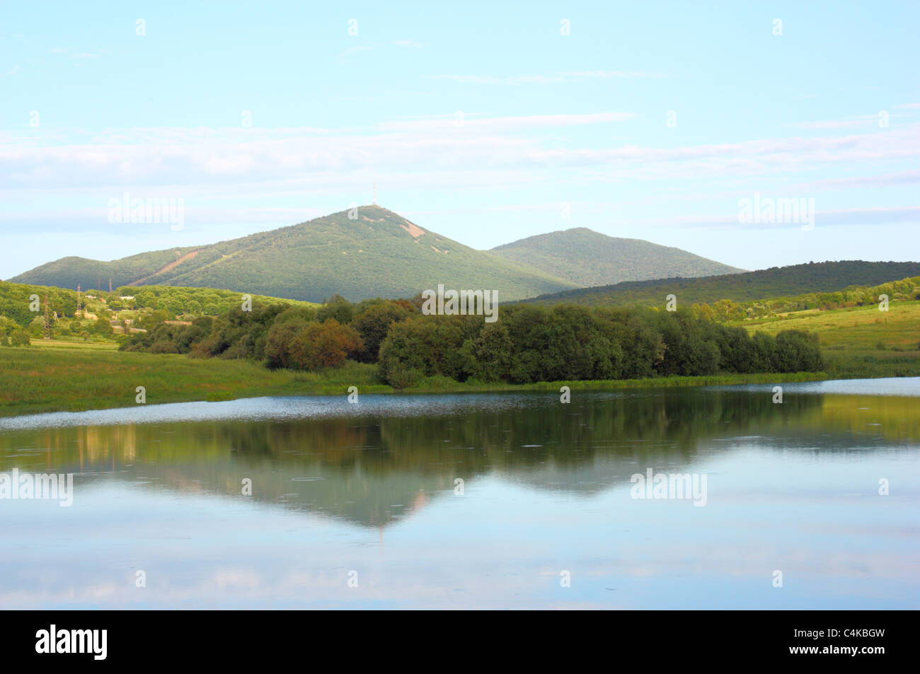
[(322, 302), (411, 297), (446, 289), (495, 290), (514, 300), (577, 287), (538, 268), (459, 244), (393, 211), (361, 206), (307, 223), (209, 246), (174, 248), (111, 262), (63, 257), (20, 274), (17, 283), (83, 290), (127, 285), (225, 288)]

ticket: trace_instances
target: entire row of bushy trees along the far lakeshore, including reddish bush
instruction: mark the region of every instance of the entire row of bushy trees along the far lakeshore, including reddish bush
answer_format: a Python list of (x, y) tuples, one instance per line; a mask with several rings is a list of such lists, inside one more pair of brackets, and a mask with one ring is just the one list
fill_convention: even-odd
[(252, 359), (315, 371), (346, 359), (375, 363), (397, 388), (423, 377), (535, 383), (820, 371), (818, 337), (798, 330), (749, 335), (689, 309), (592, 309), (559, 304), (501, 307), (499, 320), (420, 313), (420, 298), (319, 307), (253, 303), (189, 326), (161, 323), (125, 350)]

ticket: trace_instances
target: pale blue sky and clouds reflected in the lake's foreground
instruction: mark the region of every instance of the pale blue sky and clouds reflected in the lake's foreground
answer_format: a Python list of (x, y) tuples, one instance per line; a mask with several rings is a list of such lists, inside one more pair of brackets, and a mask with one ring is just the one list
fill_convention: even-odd
[[(729, 458), (711, 469), (732, 475), (736, 463), (741, 461)], [(915, 462), (911, 465), (915, 472)], [(789, 469), (796, 466), (776, 466), (765, 479), (788, 475)], [(834, 472), (834, 466), (828, 470)], [(805, 472), (799, 474), (808, 481)], [(776, 507), (768, 496), (760, 497), (748, 508), (753, 515), (769, 512), (772, 526), (765, 528), (752, 527), (750, 514), (745, 517), (737, 503), (702, 508), (700, 519), (699, 510), (680, 508), (686, 504), (636, 502), (627, 495), (627, 488), (616, 489), (585, 508), (580, 499), (541, 498), (491, 480), (463, 499), (436, 502), (387, 530), (381, 550), (375, 531), (295, 519), (268, 508), (215, 507), (211, 499), (147, 494), (131, 509), (175, 520), (172, 535), (187, 541), (165, 546), (140, 536), (101, 551), (67, 543), (63, 534), (71, 527), (105, 540), (108, 527), (95, 513), (113, 495), (100, 491), (97, 503), (82, 514), (84, 521), (46, 525), (16, 563), (0, 558), (5, 571), (0, 605), (656, 608), (741, 601), (756, 606), (758, 588), (769, 588), (775, 568), (784, 572), (780, 597), (787, 601), (830, 607), (894, 602), (905, 608), (912, 601), (904, 587), (917, 582), (914, 538), (894, 528), (834, 531), (836, 520), (871, 506), (811, 508), (803, 518), (800, 503)], [(184, 520), (176, 520), (179, 513)], [(816, 528), (826, 535), (816, 538)], [(873, 545), (861, 544), (867, 536)], [(892, 536), (900, 547), (886, 544)], [(879, 546), (888, 552), (878, 554)], [(134, 566), (147, 572), (146, 588), (134, 587)], [(351, 569), (359, 573), (358, 588), (347, 585)], [(571, 588), (559, 587), (563, 569), (571, 572)], [(744, 589), (750, 594), (738, 595)], [(752, 599), (745, 603), (745, 596)]]

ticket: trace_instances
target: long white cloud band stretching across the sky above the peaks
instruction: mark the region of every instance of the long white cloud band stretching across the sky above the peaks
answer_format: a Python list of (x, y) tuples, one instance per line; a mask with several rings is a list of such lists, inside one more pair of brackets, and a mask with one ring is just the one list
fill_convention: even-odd
[[(629, 112), (487, 117), (468, 114), (385, 122), (370, 129), (115, 130), (80, 142), (36, 146), (30, 134), (0, 137), (0, 183), (11, 189), (270, 182), (293, 174), (385, 169), (480, 171), (562, 168), (599, 184), (743, 175), (788, 175), (822, 166), (913, 160), (920, 125), (877, 133), (658, 148), (546, 146), (538, 131), (629, 120)], [(594, 172), (591, 175), (590, 172)]]

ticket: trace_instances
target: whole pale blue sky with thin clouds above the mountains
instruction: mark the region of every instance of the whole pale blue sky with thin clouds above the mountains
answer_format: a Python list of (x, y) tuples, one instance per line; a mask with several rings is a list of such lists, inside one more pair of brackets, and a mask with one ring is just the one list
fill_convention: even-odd
[[(748, 269), (920, 259), (915, 0), (496, 5), (0, 2), (0, 278), (374, 188), (483, 249), (589, 227)], [(125, 195), (182, 222), (118, 222)]]

